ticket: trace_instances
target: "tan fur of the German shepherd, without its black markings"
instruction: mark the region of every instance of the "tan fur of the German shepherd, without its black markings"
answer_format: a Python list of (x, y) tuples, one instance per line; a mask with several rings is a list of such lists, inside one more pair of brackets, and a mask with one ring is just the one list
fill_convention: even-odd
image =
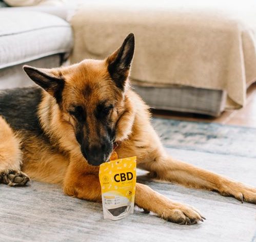
[[(136, 156), (138, 167), (154, 172), (157, 178), (166, 181), (215, 190), (222, 195), (256, 203), (255, 188), (176, 161), (166, 154), (150, 124), (148, 106), (130, 89), (128, 80), (124, 92), (120, 92), (111, 80), (107, 67), (116, 53), (106, 60), (84, 60), (70, 67), (47, 70), (51, 76), (65, 78), (63, 103), (60, 108), (52, 97), (54, 93), (44, 92), (38, 111), (41, 126), (50, 137), (51, 147), (37, 137), (27, 138), (25, 133), (18, 134), (24, 156), (22, 170), (34, 180), (63, 184), (63, 190), (68, 195), (101, 201), (99, 167), (89, 165), (82, 155), (74, 134), (75, 121), (68, 114), (68, 109), (70, 103), (87, 106), (88, 127), (93, 133), (97, 121), (90, 114), (99, 100), (108, 100), (115, 104), (111, 120), (115, 123), (115, 142), (119, 144), (116, 152), (120, 158)], [(16, 166), (17, 169), (21, 159), (17, 136), (1, 118), (0, 127), (0, 167), (10, 169)], [(38, 152), (40, 156), (36, 155)], [(203, 217), (198, 210), (175, 203), (139, 183), (136, 184), (135, 203), (175, 223), (194, 224), (202, 221)]]

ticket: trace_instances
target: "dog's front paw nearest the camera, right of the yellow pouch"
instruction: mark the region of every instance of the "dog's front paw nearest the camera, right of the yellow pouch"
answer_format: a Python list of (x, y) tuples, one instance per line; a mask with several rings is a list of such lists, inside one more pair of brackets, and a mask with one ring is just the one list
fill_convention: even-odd
[(199, 221), (204, 222), (205, 219), (198, 210), (183, 204), (165, 209), (162, 212), (161, 217), (169, 222), (181, 225), (192, 225)]

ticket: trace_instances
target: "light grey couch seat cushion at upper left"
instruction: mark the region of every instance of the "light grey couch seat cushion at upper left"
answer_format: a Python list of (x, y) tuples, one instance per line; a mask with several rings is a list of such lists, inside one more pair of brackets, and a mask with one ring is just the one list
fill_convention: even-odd
[(71, 27), (59, 17), (0, 10), (0, 23), (0, 69), (71, 50)]

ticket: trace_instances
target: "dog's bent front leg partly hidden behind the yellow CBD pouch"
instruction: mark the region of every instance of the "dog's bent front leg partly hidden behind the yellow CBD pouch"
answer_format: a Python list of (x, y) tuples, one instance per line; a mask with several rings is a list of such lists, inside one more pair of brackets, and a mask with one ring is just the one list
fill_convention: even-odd
[[(90, 166), (84, 160), (71, 159), (64, 180), (64, 192), (80, 199), (101, 201), (99, 167)], [(203, 221), (193, 207), (172, 202), (140, 183), (136, 183), (135, 204), (173, 223), (195, 224)]]

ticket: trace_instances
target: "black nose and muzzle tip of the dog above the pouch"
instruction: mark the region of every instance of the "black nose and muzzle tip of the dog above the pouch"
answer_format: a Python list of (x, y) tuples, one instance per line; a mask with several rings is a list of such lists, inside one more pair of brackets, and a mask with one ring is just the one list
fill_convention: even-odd
[(93, 166), (99, 166), (104, 163), (111, 151), (111, 145), (108, 142), (104, 142), (100, 145), (90, 145), (83, 152), (87, 162)]

